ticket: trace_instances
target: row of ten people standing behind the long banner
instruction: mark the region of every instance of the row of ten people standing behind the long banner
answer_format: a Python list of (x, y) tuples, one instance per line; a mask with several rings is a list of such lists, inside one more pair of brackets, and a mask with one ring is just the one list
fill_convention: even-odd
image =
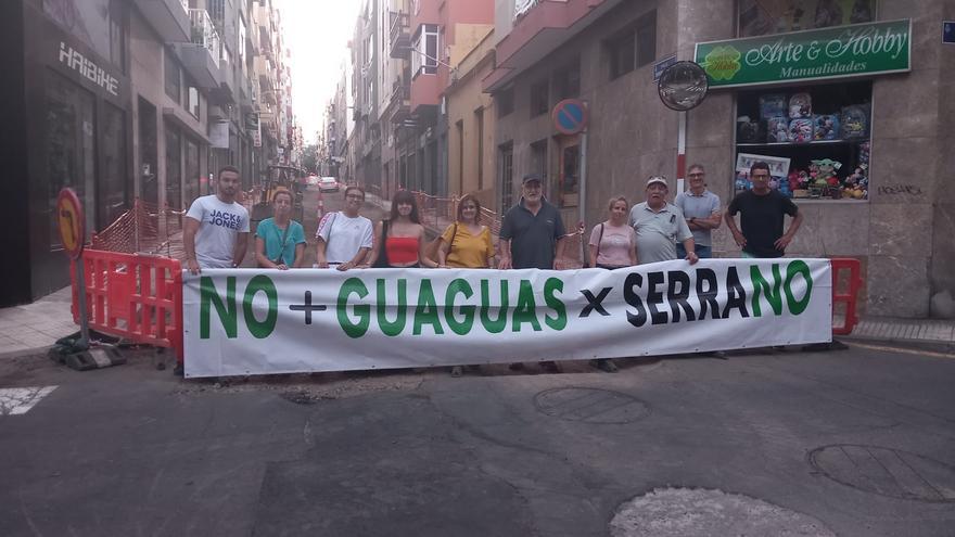
[[(750, 170), (751, 190), (737, 194), (723, 215), (720, 197), (706, 189), (703, 166), (693, 164), (687, 174), (689, 190), (667, 201), (663, 176), (647, 180), (645, 201), (629, 206), (615, 196), (608, 205), (608, 219), (594, 227), (588, 245), (588, 266), (608, 270), (672, 259), (696, 264), (712, 256), (712, 231), (725, 220), (743, 257), (781, 257), (802, 223), (791, 200), (769, 188), (769, 166), (756, 162)], [(239, 170), (224, 167), (215, 194), (193, 202), (183, 227), (187, 268), (239, 267), (245, 256), (249, 213), (235, 196)], [(560, 210), (544, 195), (538, 175), (522, 180), (520, 201), (504, 215), (497, 252), (498, 269), (555, 269), (562, 266), (568, 233)], [(491, 229), (481, 222), (481, 203), (471, 194), (460, 199), (455, 221), (438, 238), (430, 256), (429, 241), (409, 191), (398, 191), (391, 214), (377, 225), (361, 216), (365, 191), (355, 186), (344, 192), (345, 205), (319, 221), (315, 268), (491, 268), (495, 247)], [(286, 270), (305, 266), (305, 230), (291, 219), (293, 195), (279, 190), (272, 196), (273, 217), (259, 222), (255, 232), (258, 267)], [(736, 215), (740, 214), (740, 226)], [(792, 221), (784, 232), (785, 216)], [(583, 223), (580, 231), (584, 230)], [(436, 258), (434, 258), (436, 257)], [(595, 362), (615, 371), (609, 359)], [(520, 365), (511, 365), (518, 369)], [(555, 362), (542, 362), (557, 370)], [(455, 368), (453, 374), (460, 374)]]

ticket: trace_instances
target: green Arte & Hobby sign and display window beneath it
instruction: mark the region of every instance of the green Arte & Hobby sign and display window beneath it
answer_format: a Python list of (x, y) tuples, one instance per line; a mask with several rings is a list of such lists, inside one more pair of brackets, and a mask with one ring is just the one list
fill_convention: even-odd
[(698, 43), (714, 91), (736, 92), (734, 190), (753, 162), (797, 200), (864, 203), (873, 171), (873, 84), (911, 69), (908, 20)]

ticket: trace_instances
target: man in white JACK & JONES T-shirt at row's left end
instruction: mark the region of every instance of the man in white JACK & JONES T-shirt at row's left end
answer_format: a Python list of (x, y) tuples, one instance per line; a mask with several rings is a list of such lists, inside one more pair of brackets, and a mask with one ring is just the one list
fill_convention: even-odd
[(186, 267), (193, 274), (238, 267), (249, 245), (249, 212), (235, 202), (239, 169), (225, 166), (216, 182), (216, 193), (198, 197), (186, 213), (182, 242)]

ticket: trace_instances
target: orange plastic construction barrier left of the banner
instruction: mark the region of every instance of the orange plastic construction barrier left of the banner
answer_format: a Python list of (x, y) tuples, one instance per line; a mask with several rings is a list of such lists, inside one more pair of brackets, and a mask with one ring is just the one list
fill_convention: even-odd
[[(89, 325), (133, 343), (169, 347), (182, 362), (182, 269), (178, 259), (86, 250)], [(76, 263), (76, 261), (74, 261)], [(73, 320), (79, 322), (76, 270)]]

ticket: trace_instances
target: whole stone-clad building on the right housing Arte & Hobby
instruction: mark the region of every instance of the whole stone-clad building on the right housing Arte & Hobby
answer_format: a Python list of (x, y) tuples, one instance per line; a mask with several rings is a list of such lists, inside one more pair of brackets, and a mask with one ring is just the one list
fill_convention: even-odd
[[(612, 195), (641, 201), (652, 174), (666, 175), (675, 194), (679, 114), (662, 105), (654, 65), (693, 60), (699, 46), (709, 51), (696, 60), (711, 89), (686, 113), (685, 162), (706, 166), (724, 207), (748, 187), (748, 165), (766, 159), (777, 188), (806, 215), (787, 255), (861, 259), (865, 312), (925, 317), (933, 293), (955, 287), (953, 194), (944, 183), (955, 56), (939, 39), (955, 2), (501, 0), (497, 8), (497, 68), (483, 84), (497, 108), (499, 207), (529, 171), (547, 177), (566, 221), (588, 226), (606, 217)], [(777, 62), (782, 52), (773, 43), (802, 30), (816, 50), (830, 49), (768, 78), (727, 84), (752, 64)], [(751, 38), (757, 52), (747, 56)], [(891, 60), (907, 55), (911, 64), (873, 71), (886, 59), (871, 43), (890, 41)], [(862, 61), (866, 53), (876, 60)], [(586, 155), (580, 136), (562, 136), (551, 122), (564, 98), (588, 105)], [(725, 227), (714, 240), (717, 255), (738, 255)]]

